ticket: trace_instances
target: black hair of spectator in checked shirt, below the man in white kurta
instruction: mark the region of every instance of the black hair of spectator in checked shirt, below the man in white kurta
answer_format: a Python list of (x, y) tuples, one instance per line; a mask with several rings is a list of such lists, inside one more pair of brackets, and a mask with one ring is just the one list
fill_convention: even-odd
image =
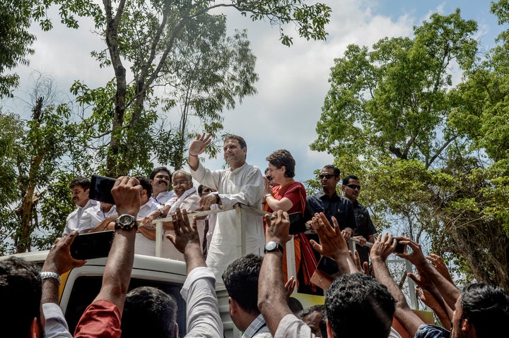
[(223, 282), (228, 295), (247, 313), (259, 314), (258, 275), (262, 267), (262, 257), (248, 253), (234, 260), (225, 272)]

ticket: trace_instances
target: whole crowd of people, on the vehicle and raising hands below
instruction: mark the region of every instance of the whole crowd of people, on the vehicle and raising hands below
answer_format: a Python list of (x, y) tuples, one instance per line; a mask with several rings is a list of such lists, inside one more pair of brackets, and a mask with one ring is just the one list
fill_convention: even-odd
[[(76, 210), (67, 218), (64, 236), (49, 251), (41, 272), (23, 258), (0, 261), (0, 299), (9, 304), (0, 315), (6, 337), (179, 337), (171, 296), (145, 286), (127, 293), (134, 254), (155, 253), (152, 222), (169, 215), (171, 222), (163, 225), (165, 246), (175, 253), (164, 251), (165, 255), (184, 260), (187, 267), (181, 290), (187, 303), (186, 337), (223, 337), (217, 281), (228, 291), (230, 317), (245, 338), (402, 337), (393, 327), (395, 321), (416, 338), (484, 338), (503, 332), (509, 319), (508, 292), (482, 283), (460, 290), (439, 256), (425, 256), (418, 243), (404, 236), (375, 236), (367, 210), (357, 201), (358, 177), (346, 176), (338, 195), (339, 169), (324, 166), (319, 176), (322, 191), (306, 195), (302, 184), (293, 180), (295, 160), (287, 150), (267, 157), (263, 175), (245, 161), (245, 140), (230, 135), (223, 146), (230, 168), (213, 171), (199, 162), (210, 143), (210, 135), (202, 134), (189, 146), (189, 173), (170, 174), (159, 167), (149, 178), (117, 178), (112, 188), (114, 205), (88, 200), (86, 179), (71, 181)], [(198, 189), (193, 179), (201, 183)], [(236, 203), (267, 212), (264, 217), (253, 214), (243, 219), (247, 255), (240, 258), (232, 210)], [(194, 210), (213, 207), (230, 211), (214, 215), (215, 219), (194, 216), (190, 221)], [(290, 236), (289, 215), (294, 212), (303, 215), (313, 234)], [(71, 334), (58, 306), (60, 275), (85, 263), (71, 257), (69, 247), (76, 236), (104, 229), (113, 229), (115, 239), (103, 284)], [(353, 237), (359, 248), (365, 241), (373, 246), (354, 255), (348, 246)], [(298, 248), (296, 271), (301, 278), (286, 275), (285, 248), (291, 239)], [(409, 250), (394, 253), (398, 241)], [(414, 265), (416, 274), (409, 277), (440, 325), (423, 322), (409, 308), (387, 268), (391, 254)], [(337, 266), (338, 277), (323, 293), (323, 305), (296, 310), (291, 294), (296, 287), (315, 291), (310, 275), (322, 258)], [(371, 270), (365, 268), (369, 262)], [(139, 325), (140, 320), (144, 325)]]

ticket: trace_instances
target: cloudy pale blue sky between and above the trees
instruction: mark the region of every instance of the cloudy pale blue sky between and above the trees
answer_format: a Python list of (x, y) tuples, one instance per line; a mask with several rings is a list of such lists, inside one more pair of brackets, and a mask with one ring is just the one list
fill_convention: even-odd
[[(248, 30), (252, 51), (257, 56), (256, 84), (258, 94), (247, 97), (233, 111), (224, 111), (224, 126), (228, 133), (242, 135), (247, 141), (247, 162), (262, 171), (265, 158), (277, 149), (285, 148), (296, 158), (296, 180), (312, 177), (315, 169), (332, 162), (327, 153), (313, 152), (310, 143), (316, 139), (315, 127), (320, 119), (322, 103), (329, 90), (329, 71), (334, 58), (341, 57), (346, 46), (371, 46), (382, 37), (411, 36), (414, 25), (421, 25), (431, 13), (448, 15), (460, 8), (462, 17), (479, 23), (479, 42), (492, 47), (501, 32), (496, 18), (489, 13), (489, 0), (409, 1), (409, 0), (322, 0), (332, 8), (327, 26), (327, 41), (294, 39), (288, 48), (279, 42), (279, 30), (269, 23), (252, 23), (234, 11), (226, 12), (228, 29)], [(30, 88), (33, 71), (54, 78), (61, 95), (68, 95), (74, 80), (90, 87), (103, 85), (112, 77), (111, 69), (100, 70), (90, 57), (90, 51), (103, 49), (98, 37), (90, 32), (90, 22), (84, 20), (79, 30), (62, 28), (40, 32), (33, 28), (37, 41), (35, 55), (29, 67), (16, 71), (21, 75), (21, 87), (16, 98), (4, 102), (4, 110), (28, 116), (30, 107), (23, 103)], [(293, 26), (286, 28), (293, 32)], [(177, 116), (175, 115), (175, 121)], [(207, 159), (211, 169), (223, 165), (222, 158)], [(186, 169), (186, 168), (185, 168)]]

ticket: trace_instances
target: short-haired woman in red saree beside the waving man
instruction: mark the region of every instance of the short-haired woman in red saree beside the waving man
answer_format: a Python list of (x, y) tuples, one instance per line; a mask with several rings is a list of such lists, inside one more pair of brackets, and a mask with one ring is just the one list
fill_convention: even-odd
[[(265, 176), (265, 196), (262, 200), (263, 209), (267, 212), (283, 210), (291, 214), (304, 214), (306, 192), (302, 183), (293, 179), (295, 176), (295, 159), (288, 150), (276, 150), (269, 157), (268, 170)], [(270, 178), (270, 179), (269, 179)], [(265, 222), (265, 220), (264, 220)], [(314, 289), (310, 278), (315, 272), (317, 261), (312, 253), (311, 245), (305, 234), (293, 235), (296, 255), (296, 273), (303, 272), (303, 281)], [(283, 277), (288, 280), (286, 272), (286, 255), (283, 255)], [(296, 279), (297, 276), (295, 276)]]

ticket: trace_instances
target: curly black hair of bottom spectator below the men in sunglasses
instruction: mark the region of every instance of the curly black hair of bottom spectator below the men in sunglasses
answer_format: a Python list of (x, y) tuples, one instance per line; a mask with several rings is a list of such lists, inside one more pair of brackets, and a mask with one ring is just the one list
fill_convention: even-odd
[(363, 327), (365, 337), (386, 338), (395, 310), (387, 287), (361, 272), (334, 279), (325, 296), (325, 308), (334, 337), (356, 337)]

